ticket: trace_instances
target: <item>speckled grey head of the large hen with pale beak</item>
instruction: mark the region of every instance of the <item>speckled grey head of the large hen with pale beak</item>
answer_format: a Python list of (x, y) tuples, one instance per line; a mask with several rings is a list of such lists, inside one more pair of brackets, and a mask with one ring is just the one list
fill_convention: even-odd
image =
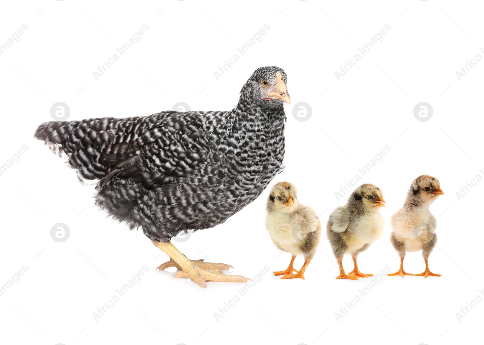
[(259, 67), (242, 86), (241, 101), (269, 107), (291, 104), (286, 84), (287, 75), (282, 68)]

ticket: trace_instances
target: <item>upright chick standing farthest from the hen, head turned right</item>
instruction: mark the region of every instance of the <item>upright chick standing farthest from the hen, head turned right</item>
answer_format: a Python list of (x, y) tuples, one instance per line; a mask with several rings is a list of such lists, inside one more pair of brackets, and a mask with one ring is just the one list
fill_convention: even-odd
[(403, 270), (403, 259), (407, 252), (422, 250), (425, 260), (425, 271), (415, 275), (429, 275), (439, 277), (440, 274), (430, 272), (428, 257), (437, 243), (435, 234), (437, 219), (429, 210), (430, 205), (444, 192), (440, 189), (440, 182), (435, 177), (421, 175), (413, 180), (407, 192), (407, 199), (403, 207), (390, 218), (392, 233), (390, 241), (400, 256), (400, 269), (388, 275), (414, 275)]

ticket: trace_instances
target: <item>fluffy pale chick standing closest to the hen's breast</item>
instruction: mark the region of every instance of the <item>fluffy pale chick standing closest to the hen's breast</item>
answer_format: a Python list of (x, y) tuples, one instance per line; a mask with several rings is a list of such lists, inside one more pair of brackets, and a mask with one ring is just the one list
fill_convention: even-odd
[[(316, 212), (311, 207), (301, 205), (296, 195), (294, 185), (279, 182), (272, 187), (267, 200), (266, 229), (272, 242), (280, 250), (292, 254), (286, 270), (272, 272), (274, 275), (284, 275), (282, 279), (304, 279), (304, 272), (314, 258), (321, 238), (321, 221)], [(299, 271), (293, 267), (298, 255), (304, 256), (304, 264)]]

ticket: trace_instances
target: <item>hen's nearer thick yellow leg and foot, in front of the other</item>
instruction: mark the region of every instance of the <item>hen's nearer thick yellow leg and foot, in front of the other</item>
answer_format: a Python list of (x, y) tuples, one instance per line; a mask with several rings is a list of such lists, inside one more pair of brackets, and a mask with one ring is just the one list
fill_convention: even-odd
[[(178, 278), (181, 278), (182, 276), (188, 277), (202, 288), (205, 288), (207, 286), (207, 283), (205, 283), (206, 281), (245, 283), (247, 282), (247, 280), (250, 280), (250, 278), (243, 277), (242, 275), (221, 274), (220, 273), (221, 271), (217, 269), (215, 269), (215, 271), (206, 271), (202, 269), (200, 266), (198, 266), (198, 264), (195, 263), (194, 261), (187, 259), (170, 242), (158, 242), (158, 241), (152, 241), (152, 242), (156, 247), (163, 250), (170, 257), (170, 261), (168, 261), (170, 266), (181, 268), (183, 273), (181, 274), (177, 273), (175, 275), (176, 277)], [(174, 262), (171, 263), (171, 261), (174, 261)], [(201, 262), (201, 261), (198, 261), (198, 262)], [(166, 266), (166, 264), (162, 264), (161, 266), (164, 266), (164, 265)], [(170, 267), (170, 266), (166, 266), (166, 267)]]

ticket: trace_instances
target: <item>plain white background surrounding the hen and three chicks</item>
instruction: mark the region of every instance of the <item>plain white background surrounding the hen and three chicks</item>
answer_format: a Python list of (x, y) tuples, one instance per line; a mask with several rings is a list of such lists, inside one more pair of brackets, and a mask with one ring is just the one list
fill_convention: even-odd
[[(0, 43), (22, 24), (28, 29), (0, 56), (0, 165), (22, 145), (28, 149), (0, 176), (0, 285), (23, 265), (28, 271), (0, 297), (2, 343), (433, 345), (480, 336), (484, 302), (460, 321), (456, 313), (484, 289), (484, 182), (460, 201), (456, 192), (484, 177), (484, 62), (461, 80), (455, 72), (484, 56), (482, 13), (478, 1), (3, 2)], [(141, 41), (95, 80), (92, 72), (145, 23)], [(334, 72), (387, 23), (383, 40), (337, 80)], [(264, 24), (270, 29), (262, 40), (217, 80), (214, 71)], [(411, 181), (430, 174), (445, 192), (431, 206), (439, 241), (429, 265), (441, 277), (385, 276), (337, 320), (370, 278), (334, 279), (338, 269), (323, 235), (305, 280), (266, 274), (217, 320), (214, 313), (244, 284), (208, 282), (202, 289), (173, 278), (173, 270), (157, 272), (166, 255), (94, 208), (94, 188), (32, 138), (59, 101), (69, 105), (69, 120), (150, 115), (179, 101), (191, 110), (230, 110), (251, 73), (272, 65), (286, 71), (292, 105), (285, 105), (287, 169), (268, 188), (295, 184), (325, 227), (348, 197), (337, 200), (335, 192), (389, 144), (359, 182), (382, 188), (388, 202), (381, 210), (385, 233), (360, 255), (360, 269), (398, 269), (390, 216)], [(434, 112), (426, 122), (413, 115), (422, 101)], [(305, 122), (293, 116), (299, 102), (312, 108)], [(285, 269), (290, 255), (280, 255), (264, 228), (267, 195), (226, 223), (173, 243), (191, 259), (231, 264), (236, 274)], [(50, 236), (59, 222), (71, 232), (63, 243)], [(351, 258), (343, 263), (349, 272)], [(144, 265), (141, 282), (95, 321), (97, 308)], [(421, 273), (421, 253), (409, 253), (405, 269)]]

